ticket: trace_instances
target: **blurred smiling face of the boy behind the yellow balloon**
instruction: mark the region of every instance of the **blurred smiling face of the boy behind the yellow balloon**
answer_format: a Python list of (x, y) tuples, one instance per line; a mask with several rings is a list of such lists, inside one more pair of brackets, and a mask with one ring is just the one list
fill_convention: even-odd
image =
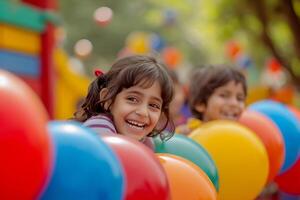
[(238, 120), (245, 108), (243, 85), (230, 81), (215, 89), (206, 105), (196, 105), (196, 110), (203, 113), (203, 121)]

